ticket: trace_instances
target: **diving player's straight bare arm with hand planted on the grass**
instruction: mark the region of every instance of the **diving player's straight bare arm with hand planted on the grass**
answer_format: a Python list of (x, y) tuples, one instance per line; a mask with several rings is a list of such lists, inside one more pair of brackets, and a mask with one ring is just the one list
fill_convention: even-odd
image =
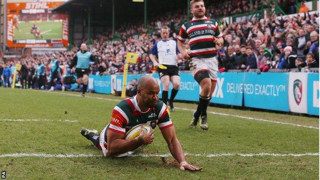
[(180, 169), (182, 171), (186, 169), (191, 171), (202, 171), (202, 167), (195, 167), (186, 162), (185, 154), (178, 138), (176, 137), (174, 126), (162, 129), (161, 133), (168, 144), (172, 156), (178, 163), (180, 163)]

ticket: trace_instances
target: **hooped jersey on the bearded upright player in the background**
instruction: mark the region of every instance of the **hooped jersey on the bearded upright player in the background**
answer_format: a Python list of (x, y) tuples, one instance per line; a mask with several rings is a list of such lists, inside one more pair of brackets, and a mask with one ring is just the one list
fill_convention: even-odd
[(189, 39), (189, 55), (198, 58), (210, 58), (216, 55), (213, 37), (223, 37), (218, 23), (211, 18), (192, 19), (181, 26), (178, 41)]

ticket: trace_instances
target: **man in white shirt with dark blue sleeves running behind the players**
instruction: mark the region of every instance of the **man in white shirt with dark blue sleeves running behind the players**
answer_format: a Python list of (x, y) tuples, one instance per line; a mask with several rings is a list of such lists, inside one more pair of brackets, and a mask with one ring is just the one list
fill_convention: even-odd
[[(159, 77), (163, 85), (162, 101), (166, 105), (168, 102), (168, 90), (170, 81), (173, 85), (170, 101), (168, 102), (168, 108), (170, 109), (170, 111), (175, 111), (173, 107), (173, 99), (178, 93), (181, 83), (177, 67), (177, 54), (179, 54), (179, 51), (177, 49), (177, 43), (169, 39), (169, 31), (170, 29), (168, 26), (163, 26), (161, 28), (162, 40), (157, 42), (153, 46), (150, 54), (150, 59), (153, 62), (153, 66), (159, 67)], [(159, 62), (156, 61), (155, 55), (158, 55)]]

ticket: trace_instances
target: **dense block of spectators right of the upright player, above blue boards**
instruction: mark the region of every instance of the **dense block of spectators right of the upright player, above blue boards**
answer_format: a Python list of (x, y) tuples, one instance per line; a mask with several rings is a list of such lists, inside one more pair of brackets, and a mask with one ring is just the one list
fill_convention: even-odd
[(224, 47), (219, 47), (221, 71), (228, 69), (319, 67), (318, 15), (272, 15), (223, 26)]

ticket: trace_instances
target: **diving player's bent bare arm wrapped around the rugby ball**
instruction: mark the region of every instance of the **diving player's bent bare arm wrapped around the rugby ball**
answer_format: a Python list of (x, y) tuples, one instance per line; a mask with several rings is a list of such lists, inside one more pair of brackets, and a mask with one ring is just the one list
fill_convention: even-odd
[(153, 130), (149, 133), (142, 131), (140, 135), (134, 139), (124, 139), (124, 134), (117, 133), (111, 130), (107, 132), (107, 147), (108, 156), (119, 155), (131, 151), (143, 144), (151, 144), (154, 137)]

